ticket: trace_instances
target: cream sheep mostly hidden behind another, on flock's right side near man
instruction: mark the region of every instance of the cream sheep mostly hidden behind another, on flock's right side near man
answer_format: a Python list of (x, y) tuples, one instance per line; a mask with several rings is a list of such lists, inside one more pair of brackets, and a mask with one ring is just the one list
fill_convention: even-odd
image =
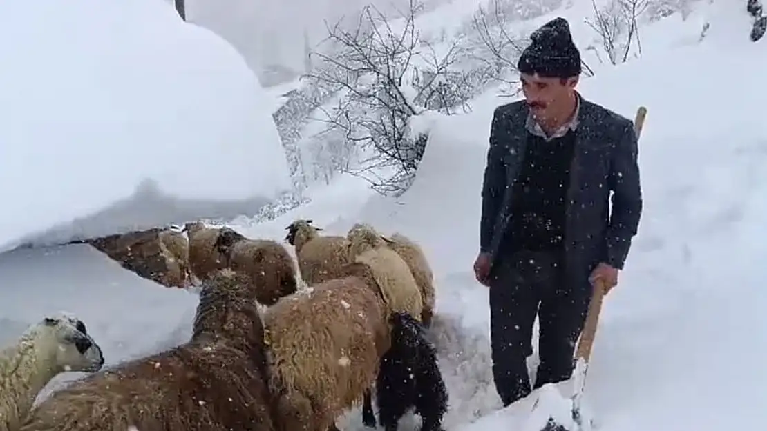
[(387, 243), (387, 246), (399, 254), (407, 263), (407, 266), (410, 267), (410, 273), (413, 273), (413, 278), (416, 280), (418, 289), (421, 292), (421, 300), (423, 302), (421, 322), (423, 322), (426, 328), (429, 328), (434, 316), (436, 302), (434, 273), (429, 265), (429, 260), (426, 260), (423, 249), (416, 242), (401, 233), (394, 233), (390, 237), (382, 238)]

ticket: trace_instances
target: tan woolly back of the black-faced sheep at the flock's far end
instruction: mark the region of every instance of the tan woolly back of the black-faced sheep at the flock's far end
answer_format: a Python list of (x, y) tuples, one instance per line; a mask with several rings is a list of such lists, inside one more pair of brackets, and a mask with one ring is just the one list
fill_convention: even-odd
[(313, 286), (343, 276), (341, 267), (348, 262), (348, 248), (344, 237), (314, 237), (300, 250), (296, 248), (301, 279)]

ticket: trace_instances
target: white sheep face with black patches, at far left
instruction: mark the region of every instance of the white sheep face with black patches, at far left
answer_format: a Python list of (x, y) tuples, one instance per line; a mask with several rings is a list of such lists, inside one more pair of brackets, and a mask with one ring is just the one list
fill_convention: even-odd
[(46, 317), (38, 325), (38, 339), (48, 346), (56, 346), (55, 364), (64, 371), (99, 371), (104, 365), (104, 354), (88, 335), (85, 324), (71, 315)]

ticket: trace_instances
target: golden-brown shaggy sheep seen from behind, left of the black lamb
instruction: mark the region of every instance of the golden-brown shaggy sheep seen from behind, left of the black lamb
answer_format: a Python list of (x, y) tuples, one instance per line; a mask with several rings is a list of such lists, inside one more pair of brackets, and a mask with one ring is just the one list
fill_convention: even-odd
[[(337, 430), (373, 386), (390, 348), (384, 302), (367, 266), (280, 299), (264, 315), (271, 385), (286, 431)], [(354, 275), (356, 273), (357, 275)]]

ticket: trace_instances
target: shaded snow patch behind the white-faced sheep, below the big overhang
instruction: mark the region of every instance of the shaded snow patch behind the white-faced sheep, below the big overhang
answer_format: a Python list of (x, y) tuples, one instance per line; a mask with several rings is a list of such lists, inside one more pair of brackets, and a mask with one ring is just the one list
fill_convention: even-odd
[[(107, 365), (188, 340), (198, 302), (197, 295), (163, 288), (84, 245), (3, 253), (0, 297), (0, 346), (44, 315), (66, 311), (83, 320)], [(82, 376), (64, 373), (40, 397)]]

